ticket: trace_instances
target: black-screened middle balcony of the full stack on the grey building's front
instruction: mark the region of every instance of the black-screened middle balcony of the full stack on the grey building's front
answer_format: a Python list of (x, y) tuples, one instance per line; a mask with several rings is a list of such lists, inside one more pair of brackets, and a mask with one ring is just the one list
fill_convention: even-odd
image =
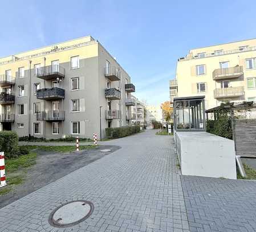
[(42, 88), (36, 91), (37, 99), (42, 100), (56, 100), (64, 99), (65, 89), (53, 87), (53, 88)]

